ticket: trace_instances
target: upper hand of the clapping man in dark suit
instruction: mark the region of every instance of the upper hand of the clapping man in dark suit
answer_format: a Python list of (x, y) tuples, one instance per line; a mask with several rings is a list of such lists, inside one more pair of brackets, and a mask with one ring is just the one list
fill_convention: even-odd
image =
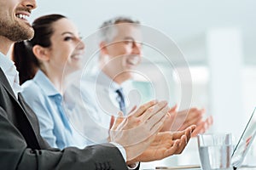
[(110, 141), (121, 144), (125, 148), (127, 161), (131, 161), (154, 141), (168, 111), (166, 101), (151, 101), (125, 118), (119, 115), (110, 129)]

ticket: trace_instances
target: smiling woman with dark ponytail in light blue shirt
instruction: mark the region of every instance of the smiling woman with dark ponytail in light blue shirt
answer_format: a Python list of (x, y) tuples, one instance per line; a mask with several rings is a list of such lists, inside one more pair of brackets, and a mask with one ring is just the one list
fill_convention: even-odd
[[(79, 31), (61, 14), (42, 16), (32, 23), (34, 37), (17, 42), (12, 54), (20, 72), (22, 94), (37, 113), (40, 133), (52, 147), (84, 147), (63, 107), (65, 78), (77, 71), (84, 54)], [(26, 57), (24, 57), (26, 56)]]

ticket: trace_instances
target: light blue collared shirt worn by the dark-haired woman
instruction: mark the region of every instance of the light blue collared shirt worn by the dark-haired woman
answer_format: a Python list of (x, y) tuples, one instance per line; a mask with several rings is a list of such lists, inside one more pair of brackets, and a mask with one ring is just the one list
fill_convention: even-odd
[(22, 88), (21, 94), (38, 116), (40, 133), (50, 146), (84, 148), (86, 139), (69, 122), (63, 97), (43, 71), (39, 70), (32, 80), (22, 84)]

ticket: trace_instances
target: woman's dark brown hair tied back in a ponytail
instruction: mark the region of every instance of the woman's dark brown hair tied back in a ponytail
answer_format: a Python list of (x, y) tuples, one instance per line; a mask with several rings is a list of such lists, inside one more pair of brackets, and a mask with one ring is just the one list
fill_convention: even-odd
[(20, 84), (32, 79), (40, 66), (38, 59), (32, 52), (32, 48), (35, 45), (49, 48), (51, 46), (50, 37), (54, 33), (52, 25), (62, 18), (67, 17), (61, 14), (49, 14), (39, 17), (32, 23), (32, 28), (35, 31), (34, 37), (28, 41), (15, 43), (12, 59), (15, 61), (17, 71), (19, 71)]

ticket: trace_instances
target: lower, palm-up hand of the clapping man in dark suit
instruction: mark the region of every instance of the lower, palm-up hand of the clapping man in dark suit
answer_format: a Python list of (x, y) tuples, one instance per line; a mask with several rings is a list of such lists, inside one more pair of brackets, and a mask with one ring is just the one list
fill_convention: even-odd
[(167, 156), (180, 154), (188, 144), (191, 133), (193, 133), (194, 130), (195, 125), (183, 131), (158, 133), (148, 149), (134, 160), (128, 161), (128, 163), (136, 161), (155, 161)]

